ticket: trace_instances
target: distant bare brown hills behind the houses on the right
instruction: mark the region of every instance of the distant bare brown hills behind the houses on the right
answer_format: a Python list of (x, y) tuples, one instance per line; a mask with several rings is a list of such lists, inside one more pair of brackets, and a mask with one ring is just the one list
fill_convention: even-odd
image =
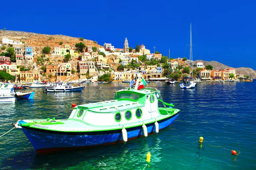
[[(195, 62), (198, 62), (200, 60), (196, 60)], [(220, 62), (217, 61), (202, 61), (204, 62), (204, 65), (212, 65), (214, 70), (223, 70), (225, 68), (233, 68), (224, 64), (221, 64)], [(235, 68), (236, 69), (236, 74), (244, 74), (250, 76), (250, 78), (256, 79), (256, 71), (253, 70), (252, 68), (246, 68), (246, 67), (239, 67)]]

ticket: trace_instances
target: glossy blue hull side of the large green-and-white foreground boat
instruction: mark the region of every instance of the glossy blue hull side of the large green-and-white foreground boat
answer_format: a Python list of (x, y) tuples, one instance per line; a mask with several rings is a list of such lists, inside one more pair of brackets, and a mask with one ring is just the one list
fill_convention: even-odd
[[(159, 130), (168, 127), (175, 121), (178, 113), (158, 121)], [(154, 133), (154, 123), (147, 124), (148, 134)], [(122, 142), (121, 130), (100, 132), (58, 132), (40, 130), (31, 127), (23, 127), (23, 132), (38, 153), (47, 153), (55, 150), (70, 148), (92, 147), (103, 144), (115, 144)], [(127, 128), (128, 140), (139, 138), (143, 135), (142, 127)]]

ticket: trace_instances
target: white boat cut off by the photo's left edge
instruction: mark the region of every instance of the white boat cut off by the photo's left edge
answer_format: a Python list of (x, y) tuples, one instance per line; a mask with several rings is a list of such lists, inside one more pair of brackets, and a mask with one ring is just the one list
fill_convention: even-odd
[(0, 83), (0, 103), (14, 103), (15, 96), (13, 96), (13, 83)]

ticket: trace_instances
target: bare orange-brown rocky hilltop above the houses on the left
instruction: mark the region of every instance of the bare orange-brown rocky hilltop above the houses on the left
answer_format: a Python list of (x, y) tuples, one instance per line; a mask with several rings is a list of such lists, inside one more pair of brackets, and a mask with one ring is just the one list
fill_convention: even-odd
[[(101, 45), (98, 45), (96, 41), (85, 39), (81, 41), (79, 40), (80, 37), (75, 38), (65, 35), (47, 35), (23, 31), (0, 30), (0, 42), (2, 41), (2, 38), (24, 41), (26, 46), (33, 46), (35, 57), (41, 54), (41, 50), (45, 46), (49, 46), (51, 47), (51, 50), (54, 50), (55, 46), (64, 47), (64, 45), (68, 44), (70, 47), (73, 47), (76, 43), (83, 42), (86, 46), (102, 47)], [(59, 42), (63, 42), (63, 44), (59, 45)]]

